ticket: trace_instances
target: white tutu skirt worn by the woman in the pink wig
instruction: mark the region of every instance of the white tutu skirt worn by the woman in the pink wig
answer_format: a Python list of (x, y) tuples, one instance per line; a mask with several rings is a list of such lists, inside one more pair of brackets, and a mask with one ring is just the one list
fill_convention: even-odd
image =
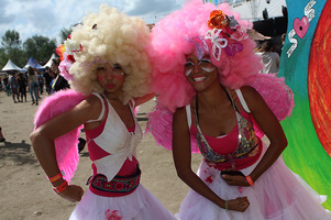
[[(264, 146), (266, 148), (266, 146)], [(258, 161), (241, 172), (250, 175)], [(304, 179), (294, 174), (279, 157), (251, 187), (229, 186), (218, 169), (203, 161), (198, 176), (222, 199), (247, 197), (250, 207), (244, 212), (219, 208), (194, 190), (189, 190), (180, 206), (180, 220), (329, 220), (330, 212), (320, 204), (319, 196)], [(208, 182), (206, 179), (208, 178)], [(210, 183), (211, 179), (211, 183)]]

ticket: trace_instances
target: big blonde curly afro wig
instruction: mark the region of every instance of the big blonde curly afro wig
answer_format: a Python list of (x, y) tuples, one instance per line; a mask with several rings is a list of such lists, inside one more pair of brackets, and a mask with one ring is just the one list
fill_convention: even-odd
[(145, 51), (150, 44), (150, 30), (142, 19), (101, 4), (99, 13), (85, 15), (82, 24), (73, 29), (71, 40), (82, 47), (74, 53), (76, 62), (69, 69), (73, 89), (86, 96), (102, 94), (95, 61), (104, 59), (111, 65), (120, 64), (126, 75), (123, 103), (128, 103), (131, 97), (150, 92), (152, 66)]

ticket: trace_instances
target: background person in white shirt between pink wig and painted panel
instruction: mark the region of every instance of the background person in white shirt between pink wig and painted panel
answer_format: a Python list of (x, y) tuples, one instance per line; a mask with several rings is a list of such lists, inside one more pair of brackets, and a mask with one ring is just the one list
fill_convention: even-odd
[(263, 74), (276, 74), (278, 76), (280, 57), (275, 52), (275, 45), (271, 40), (263, 42), (261, 47), (262, 63), (264, 64)]

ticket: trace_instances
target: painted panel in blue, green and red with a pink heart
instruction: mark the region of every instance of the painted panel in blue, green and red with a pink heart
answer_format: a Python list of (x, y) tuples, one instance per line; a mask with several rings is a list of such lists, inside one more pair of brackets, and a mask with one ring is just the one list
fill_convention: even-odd
[[(282, 122), (286, 164), (320, 195), (331, 210), (331, 1), (287, 0), (287, 37), (279, 76), (295, 95)], [(329, 41), (328, 41), (329, 40)]]

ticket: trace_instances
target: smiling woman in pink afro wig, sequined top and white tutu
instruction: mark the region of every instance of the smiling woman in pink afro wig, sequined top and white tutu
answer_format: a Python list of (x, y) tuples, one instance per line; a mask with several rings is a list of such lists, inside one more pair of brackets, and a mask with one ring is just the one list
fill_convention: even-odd
[[(152, 85), (158, 95), (158, 113), (150, 114), (148, 129), (156, 134), (162, 125), (154, 127), (153, 121), (173, 117), (176, 170), (191, 188), (177, 218), (330, 219), (319, 195), (280, 157), (287, 140), (278, 120), (289, 114), (291, 94), (282, 79), (256, 74), (262, 65), (246, 33), (251, 28), (228, 4), (197, 0), (152, 31)], [(261, 89), (265, 86), (276, 89)], [(285, 110), (269, 107), (272, 99), (265, 100), (261, 91), (280, 100), (276, 102)], [(254, 125), (267, 136), (268, 145), (255, 135)], [(156, 140), (166, 144), (169, 136), (162, 134)], [(203, 156), (197, 174), (191, 169), (195, 144)]]

